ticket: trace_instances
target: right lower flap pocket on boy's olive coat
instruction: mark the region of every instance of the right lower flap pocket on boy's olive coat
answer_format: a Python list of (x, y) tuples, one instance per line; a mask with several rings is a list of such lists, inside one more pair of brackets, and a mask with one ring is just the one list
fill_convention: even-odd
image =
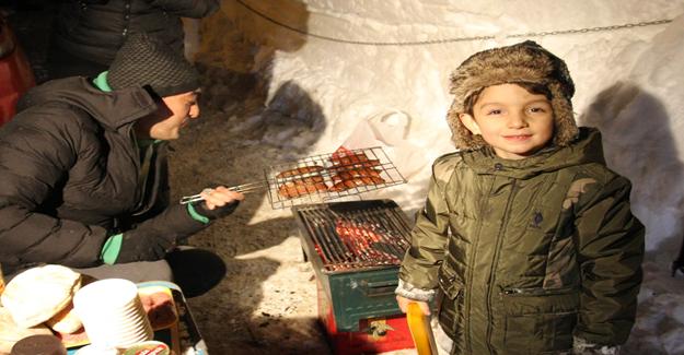
[(572, 348), (579, 293), (575, 288), (510, 288), (502, 293), (505, 343), (521, 354), (556, 354)]

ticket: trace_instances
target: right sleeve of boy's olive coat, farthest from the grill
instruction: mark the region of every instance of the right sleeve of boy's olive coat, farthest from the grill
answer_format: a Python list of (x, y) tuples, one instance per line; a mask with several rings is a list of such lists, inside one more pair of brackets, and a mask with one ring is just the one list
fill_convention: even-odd
[(635, 322), (645, 228), (631, 214), (629, 191), (618, 176), (589, 184), (576, 212), (581, 294), (575, 336), (590, 343), (623, 344)]

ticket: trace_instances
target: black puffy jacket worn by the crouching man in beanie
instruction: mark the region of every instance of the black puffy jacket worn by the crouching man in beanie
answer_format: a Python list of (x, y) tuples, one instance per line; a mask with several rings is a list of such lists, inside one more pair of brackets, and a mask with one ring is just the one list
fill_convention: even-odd
[[(166, 144), (150, 145), (147, 178), (132, 123), (156, 109), (142, 88), (105, 93), (83, 78), (47, 82), (0, 129), (0, 263), (100, 264), (113, 234), (155, 216), (170, 236), (206, 225), (169, 205)], [(8, 271), (9, 270), (9, 271)]]

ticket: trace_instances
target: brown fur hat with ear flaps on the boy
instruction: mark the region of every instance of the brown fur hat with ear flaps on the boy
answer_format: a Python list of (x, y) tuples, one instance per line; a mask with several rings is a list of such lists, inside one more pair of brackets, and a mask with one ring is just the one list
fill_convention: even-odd
[(460, 150), (478, 150), (487, 145), (480, 135), (474, 135), (463, 126), (459, 114), (464, 114), (465, 102), (484, 87), (506, 83), (545, 85), (552, 94), (555, 115), (554, 144), (568, 145), (578, 134), (572, 115), (575, 84), (568, 67), (558, 57), (532, 40), (508, 47), (476, 52), (451, 74), (453, 103), (447, 114), (452, 140)]

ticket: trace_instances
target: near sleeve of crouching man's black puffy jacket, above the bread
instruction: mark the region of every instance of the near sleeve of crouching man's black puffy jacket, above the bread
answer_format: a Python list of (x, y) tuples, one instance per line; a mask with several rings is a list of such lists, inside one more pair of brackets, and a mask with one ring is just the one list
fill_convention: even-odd
[[(95, 263), (107, 230), (38, 213), (76, 161), (81, 144), (67, 110), (24, 111), (0, 130), (0, 262), (88, 267)], [(21, 117), (20, 117), (21, 116)], [(67, 122), (71, 123), (67, 123)], [(84, 152), (88, 154), (88, 152)]]

